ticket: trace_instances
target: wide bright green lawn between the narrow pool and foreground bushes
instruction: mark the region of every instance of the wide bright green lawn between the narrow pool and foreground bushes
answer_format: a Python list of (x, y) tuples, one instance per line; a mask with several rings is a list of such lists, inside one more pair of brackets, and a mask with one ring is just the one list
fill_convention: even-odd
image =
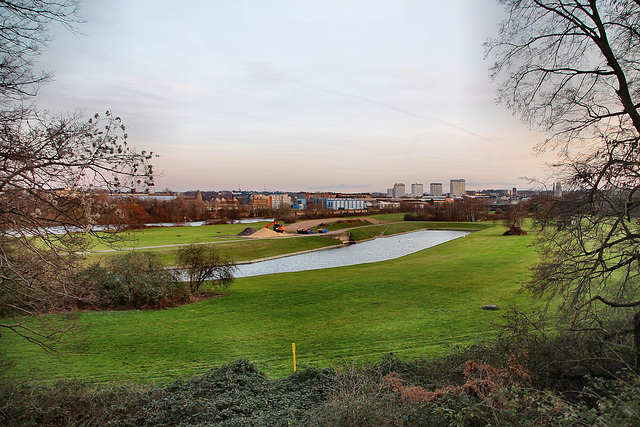
[(493, 335), (535, 261), (530, 236), (494, 227), (397, 260), (237, 280), (230, 297), (164, 311), (84, 313), (84, 346), (60, 359), (7, 334), (21, 379), (168, 381), (237, 359), (271, 375), (345, 360), (429, 356)]

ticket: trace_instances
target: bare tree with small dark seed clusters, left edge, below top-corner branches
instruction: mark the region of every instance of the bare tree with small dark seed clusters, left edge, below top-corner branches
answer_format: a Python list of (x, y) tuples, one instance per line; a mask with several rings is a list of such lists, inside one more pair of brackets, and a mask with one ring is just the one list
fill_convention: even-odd
[(84, 297), (74, 254), (89, 235), (118, 239), (117, 229), (93, 228), (101, 214), (121, 214), (102, 192), (153, 184), (151, 154), (129, 148), (124, 132), (109, 113), (83, 123), (25, 112), (0, 125), (0, 309), (29, 315), (0, 328), (50, 338), (55, 331), (37, 332), (32, 315)]

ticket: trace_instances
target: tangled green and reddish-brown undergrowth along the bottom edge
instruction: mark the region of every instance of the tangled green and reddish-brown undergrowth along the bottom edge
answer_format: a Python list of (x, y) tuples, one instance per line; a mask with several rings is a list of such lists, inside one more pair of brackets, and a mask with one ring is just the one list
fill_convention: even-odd
[[(239, 360), (167, 387), (5, 385), (0, 424), (640, 425), (637, 374), (585, 375), (567, 384), (558, 373), (549, 381), (543, 367), (568, 360), (558, 358), (562, 351), (523, 349), (533, 342), (503, 340), (430, 360), (388, 355), (373, 365), (305, 369), (279, 380)], [(541, 339), (535, 345), (544, 350), (563, 341)]]

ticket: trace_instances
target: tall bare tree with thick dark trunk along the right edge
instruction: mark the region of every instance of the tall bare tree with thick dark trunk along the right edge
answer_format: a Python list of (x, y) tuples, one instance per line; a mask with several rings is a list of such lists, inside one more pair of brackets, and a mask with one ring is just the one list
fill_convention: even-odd
[(537, 148), (557, 150), (568, 192), (544, 204), (528, 287), (574, 328), (635, 323), (640, 366), (640, 1), (500, 3), (509, 17), (487, 42), (499, 100), (548, 133)]

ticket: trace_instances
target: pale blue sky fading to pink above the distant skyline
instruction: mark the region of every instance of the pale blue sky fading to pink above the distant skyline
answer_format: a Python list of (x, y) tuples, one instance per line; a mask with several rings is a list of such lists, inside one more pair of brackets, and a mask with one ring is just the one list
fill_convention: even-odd
[[(495, 103), (495, 0), (84, 0), (36, 103), (110, 110), (156, 190), (531, 187), (543, 136)], [(546, 160), (548, 161), (548, 159)]]

